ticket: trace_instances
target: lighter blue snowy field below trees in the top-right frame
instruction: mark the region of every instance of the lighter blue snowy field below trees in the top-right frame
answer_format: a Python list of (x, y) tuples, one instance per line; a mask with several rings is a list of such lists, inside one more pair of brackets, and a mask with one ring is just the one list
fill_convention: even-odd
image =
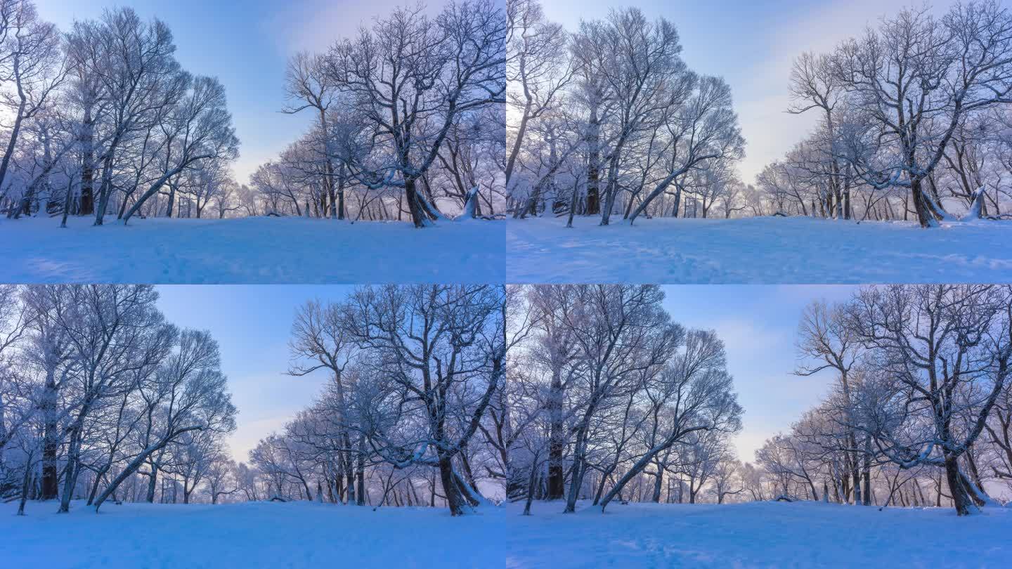
[(509, 282), (874, 283), (1012, 280), (1012, 222), (811, 218), (511, 220)]

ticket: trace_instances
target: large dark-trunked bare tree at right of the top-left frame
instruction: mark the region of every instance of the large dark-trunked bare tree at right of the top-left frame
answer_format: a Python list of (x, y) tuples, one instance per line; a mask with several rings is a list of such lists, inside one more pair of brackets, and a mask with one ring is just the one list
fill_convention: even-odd
[[(418, 191), (456, 117), (505, 103), (505, 17), (491, 0), (447, 6), (434, 20), (397, 8), (337, 44), (328, 74), (367, 121), (375, 152), (347, 161), (369, 187), (403, 187), (415, 227), (437, 212)], [(387, 65), (385, 62), (394, 62)]]

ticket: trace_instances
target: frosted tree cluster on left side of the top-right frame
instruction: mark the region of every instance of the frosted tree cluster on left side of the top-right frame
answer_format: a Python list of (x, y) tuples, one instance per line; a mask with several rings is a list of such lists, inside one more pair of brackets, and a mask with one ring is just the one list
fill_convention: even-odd
[(705, 216), (744, 156), (730, 86), (681, 59), (675, 25), (638, 8), (549, 21), (508, 0), (506, 186), (514, 218)]

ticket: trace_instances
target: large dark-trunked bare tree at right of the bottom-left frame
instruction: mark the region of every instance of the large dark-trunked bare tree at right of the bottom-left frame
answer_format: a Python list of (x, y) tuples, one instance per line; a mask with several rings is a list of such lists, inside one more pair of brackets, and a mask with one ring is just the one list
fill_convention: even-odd
[(395, 468), (437, 468), (452, 515), (481, 501), (453, 461), (504, 380), (504, 313), (502, 288), (487, 286), (363, 288), (345, 309), (347, 332), (385, 378), (377, 396), (402, 402), (387, 420), (418, 422), (396, 438), (369, 429), (370, 443)]

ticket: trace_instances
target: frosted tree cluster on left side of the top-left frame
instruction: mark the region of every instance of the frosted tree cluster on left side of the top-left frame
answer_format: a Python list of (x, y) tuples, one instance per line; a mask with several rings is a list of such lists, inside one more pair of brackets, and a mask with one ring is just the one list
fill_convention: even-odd
[(164, 22), (132, 8), (61, 31), (30, 0), (0, 0), (0, 211), (63, 225), (238, 211), (225, 88), (175, 50)]

